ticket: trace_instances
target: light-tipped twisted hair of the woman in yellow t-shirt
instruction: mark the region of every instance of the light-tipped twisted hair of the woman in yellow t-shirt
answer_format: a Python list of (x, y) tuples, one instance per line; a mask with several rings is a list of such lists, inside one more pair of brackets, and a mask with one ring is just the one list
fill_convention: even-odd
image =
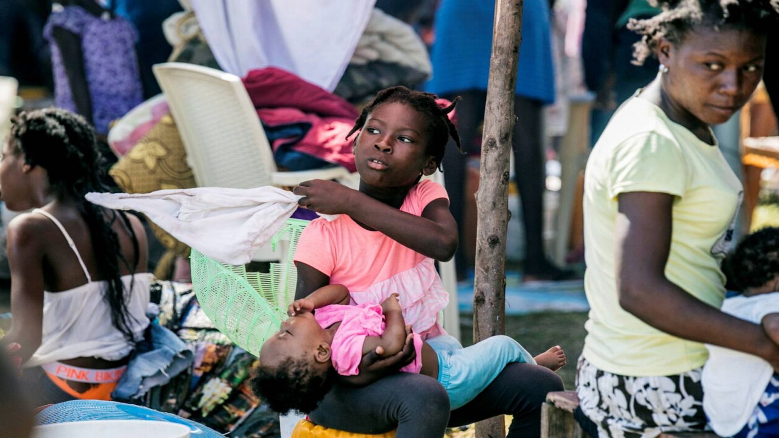
[(662, 38), (678, 44), (694, 26), (734, 26), (766, 34), (779, 23), (777, 0), (649, 0), (662, 12), (650, 19), (630, 19), (628, 28), (641, 35), (634, 45), (633, 64), (654, 55)]

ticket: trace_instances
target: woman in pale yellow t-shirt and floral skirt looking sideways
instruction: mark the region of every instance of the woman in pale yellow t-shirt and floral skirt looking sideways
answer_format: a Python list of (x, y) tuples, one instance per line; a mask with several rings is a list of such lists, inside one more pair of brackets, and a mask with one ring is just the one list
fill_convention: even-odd
[(760, 83), (779, 12), (768, 0), (660, 3), (664, 12), (630, 23), (643, 36), (636, 61), (655, 55), (660, 72), (622, 104), (587, 163), (591, 311), (577, 392), (593, 436), (705, 429), (703, 343), (779, 370), (763, 329), (719, 310), (742, 185), (710, 129)]

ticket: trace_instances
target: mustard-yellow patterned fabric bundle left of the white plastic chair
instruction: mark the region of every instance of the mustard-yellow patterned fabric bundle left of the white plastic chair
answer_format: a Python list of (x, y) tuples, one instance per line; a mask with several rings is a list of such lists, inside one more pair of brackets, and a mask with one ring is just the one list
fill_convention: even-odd
[[(165, 115), (143, 139), (108, 171), (125, 193), (150, 193), (163, 189), (196, 187), (187, 164), (181, 136), (170, 115)], [(189, 257), (189, 246), (178, 242), (151, 223), (157, 240), (178, 256)]]

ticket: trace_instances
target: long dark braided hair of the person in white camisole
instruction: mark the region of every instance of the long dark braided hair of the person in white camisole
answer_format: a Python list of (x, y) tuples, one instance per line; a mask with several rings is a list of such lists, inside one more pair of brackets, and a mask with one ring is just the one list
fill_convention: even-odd
[[(84, 198), (89, 192), (109, 191), (101, 182), (104, 158), (97, 150), (94, 130), (80, 115), (59, 108), (44, 108), (12, 118), (9, 139), (14, 154), (22, 153), (26, 164), (46, 170), (53, 193), (76, 201), (79, 214), (90, 230), (97, 273), (108, 284), (104, 298), (111, 307), (111, 323), (129, 341), (134, 341), (129, 328), (132, 316), (127, 311), (119, 263), (131, 273), (135, 272), (139, 263), (139, 243), (124, 213), (99, 207)], [(135, 249), (132, 267), (122, 256), (118, 235), (112, 228), (117, 217), (132, 237)]]

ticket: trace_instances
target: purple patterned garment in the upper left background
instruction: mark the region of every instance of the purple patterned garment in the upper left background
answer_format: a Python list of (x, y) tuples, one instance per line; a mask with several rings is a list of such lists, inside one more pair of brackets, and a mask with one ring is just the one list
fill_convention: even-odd
[[(64, 32), (63, 32), (64, 31)], [(51, 45), (55, 104), (90, 120), (97, 133), (143, 101), (132, 24), (104, 11), (58, 6), (44, 28)]]

